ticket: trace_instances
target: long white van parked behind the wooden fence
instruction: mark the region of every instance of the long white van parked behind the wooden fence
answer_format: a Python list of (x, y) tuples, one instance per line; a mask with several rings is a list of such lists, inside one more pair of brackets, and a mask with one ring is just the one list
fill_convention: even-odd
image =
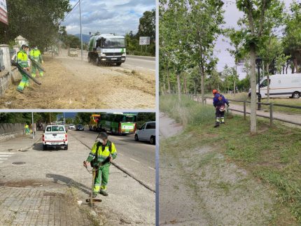
[[(258, 86), (256, 93), (259, 96)], [(292, 97), (300, 98), (301, 94), (301, 73), (276, 74), (269, 76), (269, 97)], [(251, 89), (248, 90), (248, 96), (251, 97)], [(260, 80), (260, 96), (267, 98), (267, 76)]]

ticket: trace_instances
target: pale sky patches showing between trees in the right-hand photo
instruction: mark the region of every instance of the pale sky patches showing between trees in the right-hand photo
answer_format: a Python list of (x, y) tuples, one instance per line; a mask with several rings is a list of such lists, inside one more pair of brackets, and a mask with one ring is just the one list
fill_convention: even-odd
[[(286, 8), (290, 6), (293, 0), (284, 0), (286, 4)], [(228, 0), (225, 1), (223, 6), (225, 10), (225, 24), (223, 25), (224, 28), (238, 28), (237, 20), (242, 17), (242, 13), (236, 8), (235, 0)], [(230, 43), (228, 43), (228, 38), (224, 36), (220, 36), (216, 41), (216, 48), (215, 48), (215, 56), (218, 57), (218, 71), (223, 71), (225, 64), (232, 67), (235, 66), (234, 58), (228, 52), (228, 48), (231, 48)], [(245, 78), (246, 74), (242, 71), (243, 66), (237, 67), (237, 72), (239, 73), (239, 79)]]

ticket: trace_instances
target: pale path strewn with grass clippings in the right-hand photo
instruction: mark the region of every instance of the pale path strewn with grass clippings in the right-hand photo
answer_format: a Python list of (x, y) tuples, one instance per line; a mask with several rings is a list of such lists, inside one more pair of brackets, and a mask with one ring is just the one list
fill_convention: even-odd
[[(173, 127), (180, 135), (162, 136)], [(191, 134), (162, 114), (160, 134), (160, 225), (269, 225), (275, 199), (264, 185), (216, 148), (170, 148)]]

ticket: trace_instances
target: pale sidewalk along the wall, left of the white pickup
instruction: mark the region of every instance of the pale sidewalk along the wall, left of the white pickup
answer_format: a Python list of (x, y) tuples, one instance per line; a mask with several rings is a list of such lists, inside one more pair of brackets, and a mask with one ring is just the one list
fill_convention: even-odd
[(31, 148), (31, 146), (33, 146), (34, 143), (38, 142), (38, 140), (42, 139), (42, 134), (42, 131), (37, 131), (36, 135), (34, 136), (34, 139), (32, 139), (32, 134), (30, 134), (26, 136), (18, 136), (15, 139), (10, 139), (8, 141), (1, 142), (0, 152), (27, 150)]

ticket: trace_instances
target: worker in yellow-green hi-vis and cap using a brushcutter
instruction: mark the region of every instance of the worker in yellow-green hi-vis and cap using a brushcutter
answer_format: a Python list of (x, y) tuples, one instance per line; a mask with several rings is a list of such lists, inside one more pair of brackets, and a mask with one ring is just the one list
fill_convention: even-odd
[(109, 168), (112, 160), (117, 157), (116, 147), (113, 142), (109, 141), (108, 135), (105, 132), (101, 132), (97, 136), (97, 140), (92, 146), (91, 152), (84, 161), (84, 166), (90, 162), (91, 167), (98, 170), (95, 174), (93, 197), (96, 197), (98, 193), (107, 196), (106, 185), (109, 181)]

